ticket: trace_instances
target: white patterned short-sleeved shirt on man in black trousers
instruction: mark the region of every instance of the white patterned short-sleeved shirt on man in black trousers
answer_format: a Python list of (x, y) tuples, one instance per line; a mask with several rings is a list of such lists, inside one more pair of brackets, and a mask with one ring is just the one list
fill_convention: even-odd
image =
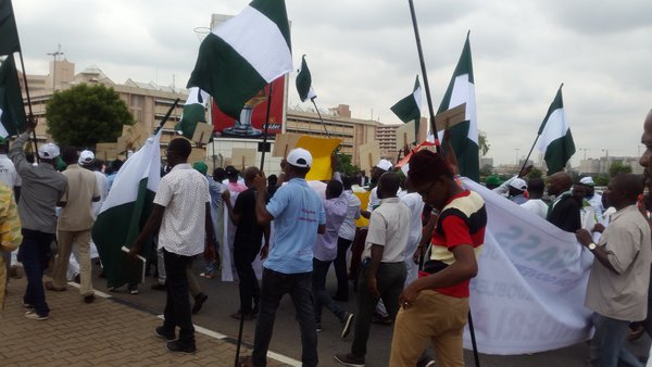
[(189, 164), (177, 164), (163, 176), (154, 197), (154, 204), (165, 206), (159, 249), (184, 256), (202, 253), (209, 202), (209, 180)]

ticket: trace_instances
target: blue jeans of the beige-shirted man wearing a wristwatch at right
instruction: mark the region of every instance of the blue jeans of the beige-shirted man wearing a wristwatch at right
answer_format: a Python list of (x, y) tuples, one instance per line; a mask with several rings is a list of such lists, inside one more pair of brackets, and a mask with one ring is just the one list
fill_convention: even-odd
[(617, 320), (593, 313), (595, 333), (591, 339), (590, 363), (593, 367), (616, 367), (618, 360), (626, 366), (643, 367), (625, 347), (629, 334), (629, 321)]

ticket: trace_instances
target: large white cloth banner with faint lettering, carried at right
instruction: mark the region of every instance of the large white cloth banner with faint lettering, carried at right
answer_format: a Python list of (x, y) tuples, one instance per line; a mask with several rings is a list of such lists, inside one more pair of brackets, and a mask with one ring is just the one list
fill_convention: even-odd
[[(478, 351), (524, 354), (565, 347), (590, 338), (584, 306), (592, 254), (539, 216), (469, 179), (487, 206), (485, 245), (471, 281)], [(472, 349), (468, 327), (464, 347)]]

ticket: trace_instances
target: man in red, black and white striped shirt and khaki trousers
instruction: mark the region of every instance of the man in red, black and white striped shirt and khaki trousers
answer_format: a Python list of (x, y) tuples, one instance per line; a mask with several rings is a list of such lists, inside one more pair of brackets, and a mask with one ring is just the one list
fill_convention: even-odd
[(485, 201), (460, 187), (446, 160), (427, 150), (410, 160), (409, 177), (424, 202), (440, 211), (430, 256), (437, 266), (401, 293), (389, 365), (415, 366), (431, 340), (438, 366), (463, 367), (468, 283), (485, 241)]

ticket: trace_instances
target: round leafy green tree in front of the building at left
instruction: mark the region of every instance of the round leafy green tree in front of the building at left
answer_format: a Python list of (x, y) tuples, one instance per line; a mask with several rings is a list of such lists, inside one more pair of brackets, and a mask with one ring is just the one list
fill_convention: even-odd
[(113, 88), (82, 84), (55, 91), (46, 105), (48, 134), (63, 145), (92, 147), (115, 141), (134, 116)]

